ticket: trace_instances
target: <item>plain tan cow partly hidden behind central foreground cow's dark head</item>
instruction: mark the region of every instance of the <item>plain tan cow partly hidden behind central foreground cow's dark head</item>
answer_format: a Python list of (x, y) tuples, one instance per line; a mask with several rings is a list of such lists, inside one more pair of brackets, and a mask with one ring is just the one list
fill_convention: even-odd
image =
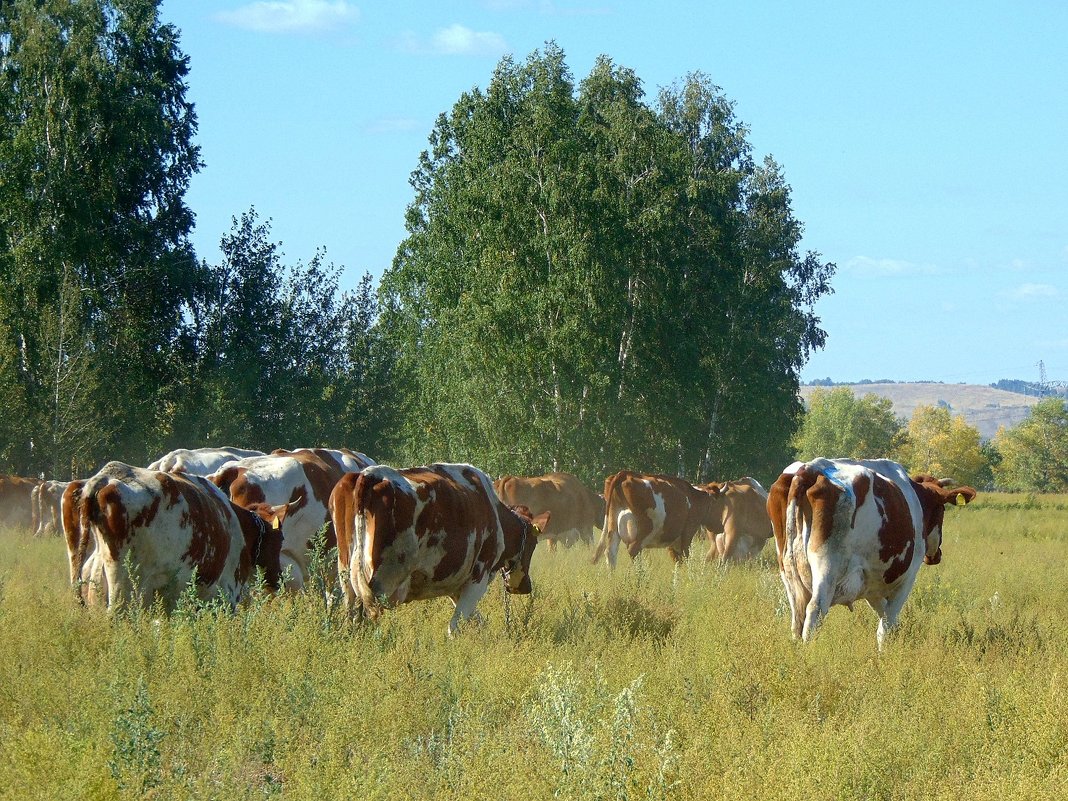
[(504, 475), (493, 482), (493, 489), (507, 506), (525, 506), (534, 515), (549, 513), (549, 524), (538, 539), (551, 550), (556, 550), (557, 540), (565, 548), (580, 539), (592, 544), (593, 530), (604, 520), (604, 500), (570, 473)]

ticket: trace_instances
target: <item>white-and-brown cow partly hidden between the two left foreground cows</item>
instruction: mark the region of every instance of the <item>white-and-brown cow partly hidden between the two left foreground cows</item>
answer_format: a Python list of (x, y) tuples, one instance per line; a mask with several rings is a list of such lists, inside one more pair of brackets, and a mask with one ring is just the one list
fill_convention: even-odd
[(281, 562), (286, 588), (297, 591), (302, 590), (310, 578), (310, 549), (319, 529), (328, 525), (327, 550), (336, 544), (330, 520), (330, 492), (354, 467), (367, 467), (361, 464), (360, 457), (370, 461), (362, 454), (350, 451), (280, 450), (266, 456), (231, 461), (211, 473), (208, 480), (239, 506), (293, 504), (286, 520)]

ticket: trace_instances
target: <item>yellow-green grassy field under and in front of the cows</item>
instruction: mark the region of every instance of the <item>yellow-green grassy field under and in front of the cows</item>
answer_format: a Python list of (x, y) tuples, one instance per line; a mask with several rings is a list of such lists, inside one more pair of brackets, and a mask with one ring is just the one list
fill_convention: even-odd
[(1068, 798), (1068, 498), (980, 496), (943, 550), (880, 654), (867, 607), (791, 642), (770, 546), (539, 550), (449, 641), (446, 600), (111, 619), (0, 532), (0, 798)]

